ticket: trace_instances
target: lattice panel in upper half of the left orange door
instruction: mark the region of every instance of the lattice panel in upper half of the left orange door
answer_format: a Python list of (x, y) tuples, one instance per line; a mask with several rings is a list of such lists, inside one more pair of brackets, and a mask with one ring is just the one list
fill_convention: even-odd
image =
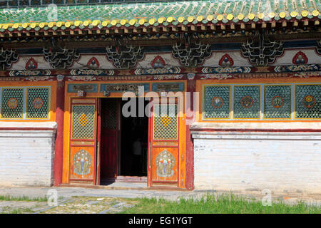
[(93, 139), (95, 136), (95, 105), (73, 105), (72, 138)]

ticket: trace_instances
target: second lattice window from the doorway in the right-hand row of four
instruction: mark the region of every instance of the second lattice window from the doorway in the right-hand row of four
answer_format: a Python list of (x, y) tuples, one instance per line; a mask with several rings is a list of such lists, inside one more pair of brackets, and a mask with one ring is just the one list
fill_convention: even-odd
[(233, 116), (237, 119), (260, 118), (260, 86), (234, 86)]

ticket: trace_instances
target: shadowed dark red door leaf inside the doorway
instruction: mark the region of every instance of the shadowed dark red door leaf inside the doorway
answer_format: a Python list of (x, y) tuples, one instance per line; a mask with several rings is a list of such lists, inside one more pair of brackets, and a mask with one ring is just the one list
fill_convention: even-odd
[(108, 182), (117, 177), (120, 100), (103, 99), (101, 107), (101, 180)]

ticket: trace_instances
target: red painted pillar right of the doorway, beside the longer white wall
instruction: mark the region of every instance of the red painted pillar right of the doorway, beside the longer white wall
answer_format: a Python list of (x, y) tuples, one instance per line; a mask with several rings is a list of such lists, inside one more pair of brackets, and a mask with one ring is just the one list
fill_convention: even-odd
[[(186, 110), (186, 189), (194, 189), (194, 145), (193, 138), (190, 135), (190, 125), (195, 120), (194, 113), (194, 96), (195, 96), (195, 73), (188, 73), (187, 81), (187, 92), (190, 93), (190, 98), (185, 96), (185, 98), (190, 99), (190, 107)], [(188, 110), (190, 108), (190, 110)], [(188, 113), (193, 113), (192, 116), (188, 117)]]

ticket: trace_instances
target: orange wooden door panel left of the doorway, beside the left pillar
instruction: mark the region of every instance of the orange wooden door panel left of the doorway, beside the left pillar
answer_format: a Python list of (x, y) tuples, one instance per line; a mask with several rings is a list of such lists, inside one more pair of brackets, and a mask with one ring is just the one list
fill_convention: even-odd
[(96, 183), (96, 98), (71, 99), (69, 183)]

